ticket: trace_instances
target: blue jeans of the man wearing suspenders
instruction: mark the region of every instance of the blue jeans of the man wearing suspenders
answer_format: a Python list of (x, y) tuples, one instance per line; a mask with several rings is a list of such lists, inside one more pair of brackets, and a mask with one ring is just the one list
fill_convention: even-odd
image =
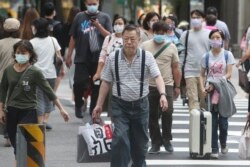
[(146, 167), (148, 150), (148, 98), (124, 101), (112, 96), (112, 119), (114, 133), (111, 144), (111, 167)]

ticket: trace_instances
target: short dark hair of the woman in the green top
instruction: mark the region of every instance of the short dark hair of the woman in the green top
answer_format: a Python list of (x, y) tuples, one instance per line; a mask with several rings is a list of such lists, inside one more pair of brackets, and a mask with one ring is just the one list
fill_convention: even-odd
[(34, 51), (34, 48), (33, 48), (32, 44), (30, 43), (29, 40), (21, 40), (21, 41), (17, 42), (13, 46), (13, 50), (14, 50), (13, 57), (14, 57), (14, 59), (15, 59), (15, 53), (16, 53), (17, 49), (25, 50), (25, 51), (28, 51), (30, 53), (30, 59), (29, 59), (30, 64), (35, 64), (37, 62), (37, 54)]

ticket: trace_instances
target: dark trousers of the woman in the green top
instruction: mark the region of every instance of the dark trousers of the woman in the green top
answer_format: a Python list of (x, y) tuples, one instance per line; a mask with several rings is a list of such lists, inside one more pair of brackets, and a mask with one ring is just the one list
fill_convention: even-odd
[(16, 154), (16, 132), (18, 124), (38, 123), (36, 109), (7, 107), (7, 132)]

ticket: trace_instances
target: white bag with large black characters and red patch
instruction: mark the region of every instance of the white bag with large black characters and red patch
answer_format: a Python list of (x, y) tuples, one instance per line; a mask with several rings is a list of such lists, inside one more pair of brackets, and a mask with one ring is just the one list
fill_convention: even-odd
[(79, 134), (83, 136), (90, 156), (100, 155), (111, 150), (112, 126), (86, 124), (79, 127)]

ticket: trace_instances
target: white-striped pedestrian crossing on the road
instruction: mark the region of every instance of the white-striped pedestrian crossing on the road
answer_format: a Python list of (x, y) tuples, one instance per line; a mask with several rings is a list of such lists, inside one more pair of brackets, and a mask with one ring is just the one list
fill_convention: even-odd
[[(189, 111), (188, 106), (183, 106), (181, 100), (174, 102), (172, 145), (173, 153), (168, 153), (162, 146), (159, 154), (148, 154), (148, 166), (250, 166), (250, 161), (241, 160), (238, 156), (238, 145), (241, 130), (246, 123), (248, 108), (247, 99), (235, 99), (237, 113), (229, 118), (229, 130), (227, 145), (229, 151), (226, 155), (220, 154), (218, 160), (194, 160), (189, 157)], [(102, 117), (107, 117), (107, 113), (102, 113)], [(109, 119), (104, 119), (110, 124)], [(161, 121), (159, 121), (160, 123)], [(149, 143), (149, 148), (151, 143)]]

